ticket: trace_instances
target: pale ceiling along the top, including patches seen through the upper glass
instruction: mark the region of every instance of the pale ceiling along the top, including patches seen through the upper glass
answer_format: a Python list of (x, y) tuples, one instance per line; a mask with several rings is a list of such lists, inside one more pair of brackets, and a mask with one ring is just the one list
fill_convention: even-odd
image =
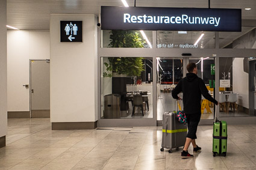
[[(133, 0), (126, 0), (134, 6)], [(49, 30), (50, 14), (96, 14), (101, 13), (101, 6), (123, 6), (121, 0), (7, 0), (7, 25), (22, 30)], [(137, 0), (136, 7), (190, 7), (208, 8), (207, 0)], [(211, 8), (242, 8), (242, 19), (256, 21), (256, 0), (212, 0)], [(252, 8), (245, 10), (245, 8)], [(255, 22), (256, 23), (256, 22)], [(221, 46), (231, 43), (253, 27), (243, 27), (242, 32), (220, 32)], [(189, 40), (193, 43), (199, 37), (198, 33), (187, 35), (158, 34), (158, 41)], [(207, 38), (208, 37), (208, 38)], [(213, 32), (204, 36), (204, 47), (212, 46)], [(187, 42), (186, 42), (187, 43)]]

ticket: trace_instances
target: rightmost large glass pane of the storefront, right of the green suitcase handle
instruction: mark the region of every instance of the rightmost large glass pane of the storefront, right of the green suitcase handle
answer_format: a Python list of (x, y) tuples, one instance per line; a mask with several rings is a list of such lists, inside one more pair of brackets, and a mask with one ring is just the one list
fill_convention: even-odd
[(220, 58), (220, 117), (255, 116), (255, 63), (253, 58)]

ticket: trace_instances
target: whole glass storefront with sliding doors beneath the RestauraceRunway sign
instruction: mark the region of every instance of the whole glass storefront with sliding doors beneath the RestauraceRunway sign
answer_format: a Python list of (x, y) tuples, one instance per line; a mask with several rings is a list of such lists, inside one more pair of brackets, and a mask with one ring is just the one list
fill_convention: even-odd
[[(219, 97), (216, 99), (220, 102), (216, 112), (218, 118), (229, 121), (228, 117), (255, 116), (255, 56), (249, 57), (249, 52), (239, 55), (234, 52), (234, 58), (223, 57), (216, 55), (220, 50), (215, 47), (219, 44), (221, 50), (230, 47), (254, 49), (254, 28), (243, 27), (242, 33), (236, 34), (239, 37), (234, 32), (219, 32), (217, 39), (216, 32), (143, 32), (101, 30), (99, 119), (102, 122), (113, 120), (114, 124), (127, 122), (140, 126), (145, 122), (161, 121), (164, 112), (182, 109), (182, 103), (172, 99), (171, 92), (186, 75), (189, 62), (197, 64), (198, 76), (204, 80), (211, 96)], [(182, 53), (192, 53), (192, 56), (182, 56)], [(223, 87), (226, 83), (230, 83), (229, 87)], [(214, 104), (203, 96), (201, 103), (201, 123), (212, 123)]]

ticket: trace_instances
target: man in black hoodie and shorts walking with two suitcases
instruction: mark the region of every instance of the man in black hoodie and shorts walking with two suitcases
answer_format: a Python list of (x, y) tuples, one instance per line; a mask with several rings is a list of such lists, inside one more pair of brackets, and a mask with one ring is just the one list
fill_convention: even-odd
[(172, 91), (172, 97), (177, 100), (181, 100), (178, 96), (179, 93), (183, 92), (183, 106), (184, 113), (187, 117), (187, 126), (189, 132), (187, 133), (186, 143), (181, 153), (182, 158), (193, 157), (192, 154), (189, 154), (187, 151), (190, 143), (193, 145), (193, 153), (201, 151), (201, 147), (196, 145), (196, 130), (198, 129), (198, 124), (201, 118), (201, 95), (205, 99), (213, 102), (215, 105), (218, 105), (217, 102), (211, 95), (208, 93), (207, 88), (205, 87), (204, 81), (197, 76), (198, 68), (194, 62), (187, 64), (186, 77), (180, 80), (178, 85)]

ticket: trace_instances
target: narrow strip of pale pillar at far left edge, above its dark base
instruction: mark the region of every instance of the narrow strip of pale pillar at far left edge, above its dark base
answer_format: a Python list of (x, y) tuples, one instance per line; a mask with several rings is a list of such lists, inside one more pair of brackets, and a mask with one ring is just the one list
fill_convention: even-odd
[(7, 1), (0, 1), (0, 137), (7, 134)]

